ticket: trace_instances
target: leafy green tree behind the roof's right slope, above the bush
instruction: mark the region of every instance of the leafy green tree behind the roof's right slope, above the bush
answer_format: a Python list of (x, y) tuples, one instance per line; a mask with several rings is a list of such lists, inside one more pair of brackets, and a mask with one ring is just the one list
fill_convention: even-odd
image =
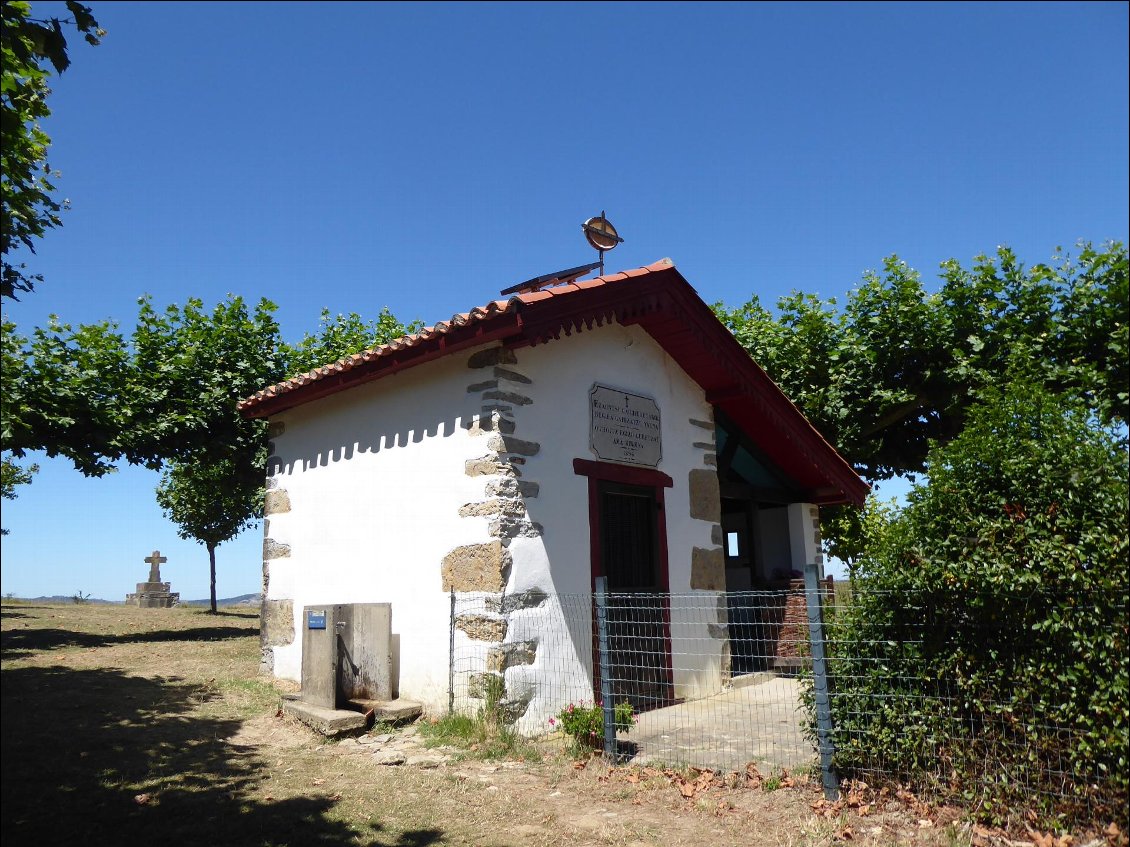
[(1083, 244), (1031, 269), (1001, 247), (941, 265), (927, 291), (896, 256), (844, 307), (793, 294), (715, 312), (754, 359), (868, 480), (920, 473), (931, 442), (962, 433), (1006, 373), (1079, 399), (1105, 422), (1130, 409), (1127, 248)]

